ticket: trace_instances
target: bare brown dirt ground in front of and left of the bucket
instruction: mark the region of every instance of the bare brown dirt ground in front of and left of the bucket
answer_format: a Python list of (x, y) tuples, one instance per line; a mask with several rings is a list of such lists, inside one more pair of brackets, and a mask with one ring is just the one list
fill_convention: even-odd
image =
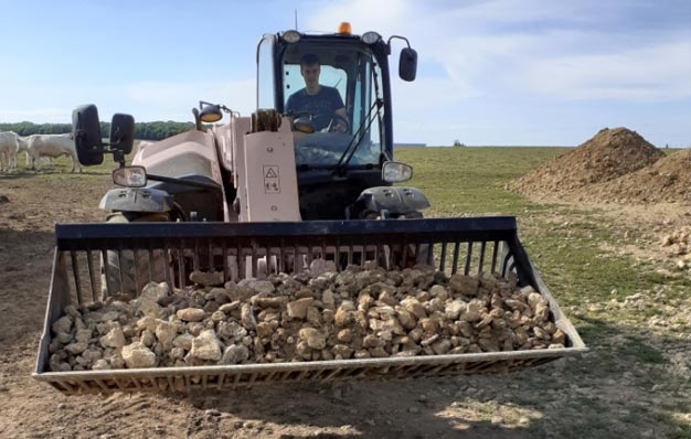
[[(599, 370), (599, 354), (593, 352), (500, 376), (66, 397), (31, 377), (50, 283), (53, 227), (56, 222), (102, 221), (97, 203), (83, 201), (97, 200), (109, 186), (109, 175), (84, 188), (76, 175), (47, 179), (47, 172), (0, 178), (1, 438), (588, 437), (578, 432), (583, 422), (630, 432), (630, 417), (656, 405), (681, 404), (688, 396), (639, 386), (642, 370)], [(660, 233), (691, 226), (691, 213), (678, 206), (610, 211), (613, 221), (634, 232), (650, 233), (651, 224), (660, 224), (655, 215), (670, 221)], [(587, 368), (598, 372), (578, 373)], [(674, 422), (691, 422), (688, 417)], [(660, 437), (655, 419), (638, 425), (641, 429), (630, 437)], [(564, 436), (568, 430), (574, 436)]]

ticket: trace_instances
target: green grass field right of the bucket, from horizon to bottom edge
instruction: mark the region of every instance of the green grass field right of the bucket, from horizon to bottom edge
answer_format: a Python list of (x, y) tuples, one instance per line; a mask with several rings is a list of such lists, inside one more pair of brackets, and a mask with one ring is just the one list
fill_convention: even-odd
[[(411, 185), (429, 197), (428, 216), (518, 217), (519, 237), (529, 256), (591, 347), (570, 366), (571, 387), (586, 385), (595, 394), (602, 392), (595, 399), (583, 395), (581, 409), (574, 406), (574, 416), (584, 419), (580, 433), (565, 428), (560, 435), (609, 438), (619, 431), (634, 432), (632, 437), (691, 438), (691, 379), (688, 368), (674, 372), (691, 365), (689, 271), (676, 269), (671, 261), (660, 266), (605, 250), (659, 244), (647, 242), (645, 232), (629, 233), (597, 208), (535, 204), (504, 189), (512, 179), (566, 151), (411, 148), (396, 150), (396, 160), (414, 165)], [(620, 407), (607, 406), (612, 396), (607, 383), (627, 383), (625, 387), (637, 392), (623, 388), (621, 395), (631, 399)], [(673, 397), (656, 395), (652, 403), (645, 400), (642, 395), (650, 389), (668, 389)], [(636, 427), (624, 427), (626, 422)]]

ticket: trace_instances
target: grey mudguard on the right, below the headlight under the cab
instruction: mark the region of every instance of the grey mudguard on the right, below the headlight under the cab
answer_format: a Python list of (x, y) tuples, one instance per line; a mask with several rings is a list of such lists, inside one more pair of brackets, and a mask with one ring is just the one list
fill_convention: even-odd
[(391, 215), (404, 215), (429, 207), (429, 201), (415, 188), (376, 186), (362, 191), (353, 207), (353, 214), (386, 211)]

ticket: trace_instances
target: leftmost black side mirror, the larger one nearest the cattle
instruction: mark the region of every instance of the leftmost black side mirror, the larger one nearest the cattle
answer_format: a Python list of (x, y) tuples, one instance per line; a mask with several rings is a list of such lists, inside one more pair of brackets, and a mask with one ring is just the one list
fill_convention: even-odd
[(103, 163), (104, 144), (95, 105), (83, 105), (72, 111), (72, 136), (79, 163), (84, 165)]

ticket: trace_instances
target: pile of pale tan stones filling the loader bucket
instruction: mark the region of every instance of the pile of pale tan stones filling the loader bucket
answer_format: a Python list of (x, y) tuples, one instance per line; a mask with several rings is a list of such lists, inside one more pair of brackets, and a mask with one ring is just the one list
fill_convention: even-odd
[(53, 372), (446, 355), (564, 347), (549, 302), (515, 276), (351, 266), (67, 306)]

